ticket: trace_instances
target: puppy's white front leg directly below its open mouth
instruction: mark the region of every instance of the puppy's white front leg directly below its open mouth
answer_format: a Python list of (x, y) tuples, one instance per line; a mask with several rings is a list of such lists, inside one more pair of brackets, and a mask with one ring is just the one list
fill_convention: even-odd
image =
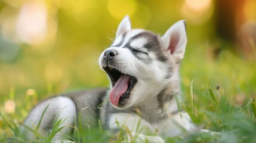
[(141, 119), (139, 116), (135, 116), (127, 113), (116, 113), (110, 116), (109, 120), (110, 129), (125, 128), (131, 132), (133, 139), (128, 135), (130, 141), (134, 142), (165, 142), (160, 136), (153, 136), (155, 130), (150, 126), (148, 122)]

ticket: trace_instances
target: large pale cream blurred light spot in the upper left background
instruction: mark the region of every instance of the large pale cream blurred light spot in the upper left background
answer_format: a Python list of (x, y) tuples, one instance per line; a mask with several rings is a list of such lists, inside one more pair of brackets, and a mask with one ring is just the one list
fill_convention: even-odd
[(39, 0), (27, 1), (18, 14), (16, 32), (18, 38), (30, 44), (44, 40), (47, 33), (47, 8)]

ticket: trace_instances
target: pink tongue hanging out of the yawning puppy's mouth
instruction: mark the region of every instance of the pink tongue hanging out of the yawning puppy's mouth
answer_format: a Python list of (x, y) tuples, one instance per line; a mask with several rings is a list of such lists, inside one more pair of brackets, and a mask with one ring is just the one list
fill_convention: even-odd
[(122, 75), (115, 83), (112, 91), (110, 91), (109, 98), (113, 105), (118, 105), (119, 99), (122, 94), (128, 89), (128, 84), (131, 77)]

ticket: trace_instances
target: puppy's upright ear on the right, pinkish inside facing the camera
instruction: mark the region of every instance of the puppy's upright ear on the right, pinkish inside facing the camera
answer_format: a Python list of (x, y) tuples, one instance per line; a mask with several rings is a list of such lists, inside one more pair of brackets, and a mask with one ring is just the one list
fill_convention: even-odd
[(176, 60), (182, 60), (187, 44), (186, 21), (177, 21), (166, 31), (161, 39), (164, 49), (170, 52)]

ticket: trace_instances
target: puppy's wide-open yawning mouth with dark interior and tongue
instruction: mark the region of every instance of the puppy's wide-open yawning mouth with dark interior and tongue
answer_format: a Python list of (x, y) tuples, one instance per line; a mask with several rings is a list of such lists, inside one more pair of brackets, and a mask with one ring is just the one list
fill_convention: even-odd
[(112, 84), (112, 90), (109, 94), (110, 102), (113, 105), (118, 105), (129, 98), (132, 88), (137, 83), (137, 79), (134, 76), (121, 73), (121, 71), (113, 67), (106, 66), (103, 69), (109, 75)]

